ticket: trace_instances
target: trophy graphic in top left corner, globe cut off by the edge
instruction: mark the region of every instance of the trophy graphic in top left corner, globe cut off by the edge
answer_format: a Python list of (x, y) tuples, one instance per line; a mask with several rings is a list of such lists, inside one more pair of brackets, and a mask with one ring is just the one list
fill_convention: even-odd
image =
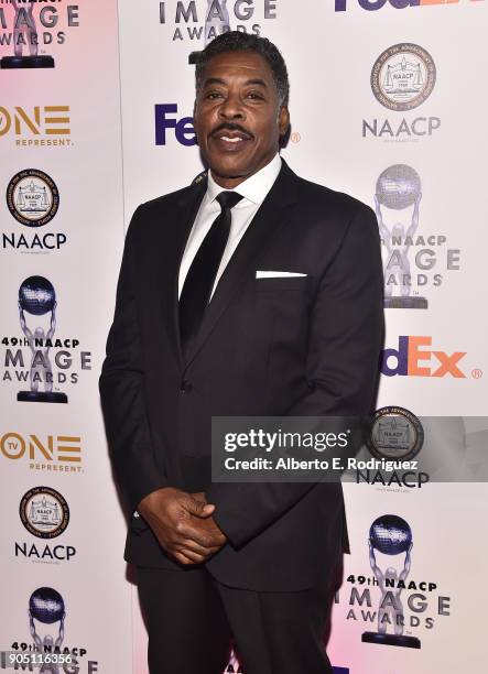
[[(12, 43), (13, 56), (3, 56), (0, 68), (54, 68), (52, 56), (39, 54), (39, 35), (34, 19), (33, 3), (22, 3), (11, 0), (15, 12), (13, 17)], [(24, 47), (29, 54), (24, 55)]]

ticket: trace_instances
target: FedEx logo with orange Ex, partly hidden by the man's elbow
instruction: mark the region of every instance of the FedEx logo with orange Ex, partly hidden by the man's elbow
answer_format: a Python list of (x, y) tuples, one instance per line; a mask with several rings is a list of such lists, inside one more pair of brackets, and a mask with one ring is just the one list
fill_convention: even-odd
[(459, 361), (465, 351), (434, 351), (432, 337), (405, 337), (398, 340), (398, 349), (384, 349), (381, 358), (381, 373), (387, 377), (445, 377), (451, 374), (465, 378)]

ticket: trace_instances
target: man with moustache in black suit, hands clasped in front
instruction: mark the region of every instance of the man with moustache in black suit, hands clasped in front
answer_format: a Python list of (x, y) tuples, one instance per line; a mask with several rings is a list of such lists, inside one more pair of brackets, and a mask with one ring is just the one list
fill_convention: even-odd
[(325, 674), (340, 483), (212, 482), (212, 416), (364, 415), (375, 404), (382, 268), (372, 210), (281, 160), (286, 67), (230, 32), (196, 67), (205, 178), (129, 227), (100, 378), (131, 513), (151, 674)]

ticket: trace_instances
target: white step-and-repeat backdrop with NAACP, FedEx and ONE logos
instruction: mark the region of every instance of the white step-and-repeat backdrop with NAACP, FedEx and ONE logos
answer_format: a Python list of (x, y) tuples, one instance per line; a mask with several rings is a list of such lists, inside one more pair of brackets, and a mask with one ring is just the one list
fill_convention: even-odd
[[(436, 438), (421, 479), (345, 483), (329, 657), (482, 670), (487, 26), (485, 0), (0, 0), (0, 651), (147, 674), (97, 383), (126, 228), (202, 171), (192, 53), (230, 28), (285, 57), (291, 167), (377, 213), (378, 436)], [(469, 481), (435, 480), (446, 456)]]

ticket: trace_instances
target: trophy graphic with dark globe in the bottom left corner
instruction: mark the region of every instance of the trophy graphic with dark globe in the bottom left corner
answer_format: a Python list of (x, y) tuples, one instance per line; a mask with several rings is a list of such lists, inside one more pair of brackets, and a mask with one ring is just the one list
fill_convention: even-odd
[[(54, 649), (58, 649), (62, 645), (64, 640), (65, 617), (66, 609), (64, 599), (57, 590), (52, 587), (40, 587), (32, 593), (29, 599), (29, 624), (32, 639), (40, 653), (55, 652)], [(58, 622), (59, 627), (57, 628), (56, 638), (53, 638), (50, 633), (43, 635), (37, 634), (37, 626), (34, 621), (37, 621), (42, 626), (52, 626)], [(41, 624), (39, 627), (41, 627)], [(41, 672), (59, 674), (59, 667), (52, 663), (43, 664), (41, 665)]]

